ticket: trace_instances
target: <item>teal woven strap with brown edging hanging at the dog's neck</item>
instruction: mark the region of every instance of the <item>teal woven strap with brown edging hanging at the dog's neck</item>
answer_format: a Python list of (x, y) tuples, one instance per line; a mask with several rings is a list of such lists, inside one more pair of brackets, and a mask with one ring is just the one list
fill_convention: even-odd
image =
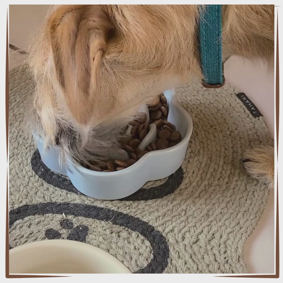
[(224, 84), (222, 64), (221, 5), (205, 5), (199, 14), (199, 44), (203, 86), (218, 88)]

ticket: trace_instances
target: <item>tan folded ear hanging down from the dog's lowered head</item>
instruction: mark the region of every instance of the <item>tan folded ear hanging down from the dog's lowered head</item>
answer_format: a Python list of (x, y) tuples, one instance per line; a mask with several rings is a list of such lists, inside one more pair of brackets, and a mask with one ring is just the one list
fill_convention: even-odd
[(48, 19), (57, 79), (73, 118), (91, 119), (106, 41), (113, 28), (101, 5), (63, 5)]

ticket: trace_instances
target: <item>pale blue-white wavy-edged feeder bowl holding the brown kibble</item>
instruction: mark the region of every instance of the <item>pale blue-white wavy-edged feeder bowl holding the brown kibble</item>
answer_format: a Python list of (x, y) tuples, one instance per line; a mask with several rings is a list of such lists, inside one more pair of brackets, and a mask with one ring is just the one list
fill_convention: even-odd
[(96, 172), (68, 161), (60, 168), (58, 147), (44, 148), (43, 140), (34, 135), (43, 163), (51, 170), (70, 178), (75, 188), (92, 198), (115, 200), (139, 190), (146, 182), (174, 173), (182, 164), (192, 134), (192, 119), (176, 101), (175, 90), (164, 91), (169, 107), (167, 121), (174, 124), (182, 141), (173, 147), (151, 151), (130, 167), (115, 172)]

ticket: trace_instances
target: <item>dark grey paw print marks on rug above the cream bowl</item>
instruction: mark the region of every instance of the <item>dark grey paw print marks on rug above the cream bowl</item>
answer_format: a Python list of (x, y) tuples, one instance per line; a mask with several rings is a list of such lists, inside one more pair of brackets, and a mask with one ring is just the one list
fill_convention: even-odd
[[(73, 240), (73, 241), (79, 241), (79, 242), (85, 242), (86, 236), (88, 235), (88, 226), (85, 225), (78, 225), (74, 228), (74, 223), (68, 219), (64, 219), (60, 222), (60, 226), (63, 229), (70, 230), (70, 233), (67, 237), (67, 240)], [(53, 239), (60, 239), (61, 233), (55, 229), (47, 229), (45, 231), (45, 237), (48, 240)]]

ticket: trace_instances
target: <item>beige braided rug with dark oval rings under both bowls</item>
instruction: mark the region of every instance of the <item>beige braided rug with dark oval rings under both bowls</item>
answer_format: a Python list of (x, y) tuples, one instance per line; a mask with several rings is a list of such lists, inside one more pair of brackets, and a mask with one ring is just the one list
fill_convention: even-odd
[(247, 175), (241, 160), (246, 149), (273, 141), (239, 91), (227, 83), (178, 88), (194, 124), (181, 168), (128, 198), (103, 201), (42, 164), (24, 131), (22, 109), (34, 90), (25, 68), (10, 71), (9, 87), (10, 248), (72, 239), (109, 252), (134, 273), (249, 273), (244, 245), (269, 189)]

